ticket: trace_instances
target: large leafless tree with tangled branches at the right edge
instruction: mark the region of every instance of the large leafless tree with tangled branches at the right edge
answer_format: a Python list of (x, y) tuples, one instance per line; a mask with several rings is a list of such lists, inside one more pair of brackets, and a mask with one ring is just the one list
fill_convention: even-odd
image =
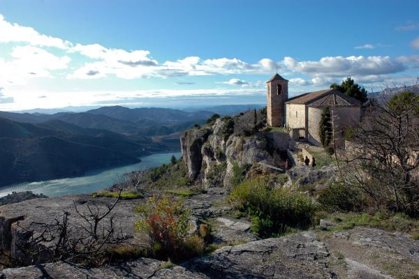
[(346, 183), (376, 206), (419, 215), (419, 96), (375, 101), (351, 137)]

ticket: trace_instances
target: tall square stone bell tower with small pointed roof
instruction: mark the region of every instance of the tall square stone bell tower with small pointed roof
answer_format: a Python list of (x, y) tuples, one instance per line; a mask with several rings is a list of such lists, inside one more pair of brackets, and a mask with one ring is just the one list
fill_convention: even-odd
[(285, 102), (288, 100), (288, 80), (276, 73), (266, 82), (267, 87), (267, 125), (284, 126)]

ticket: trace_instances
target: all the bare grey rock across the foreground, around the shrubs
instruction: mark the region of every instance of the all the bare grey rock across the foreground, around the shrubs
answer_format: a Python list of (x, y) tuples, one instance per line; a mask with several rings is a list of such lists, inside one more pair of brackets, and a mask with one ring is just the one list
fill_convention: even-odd
[[(205, 218), (213, 225), (214, 242), (242, 243), (225, 246), (205, 257), (179, 266), (169, 266), (156, 259), (140, 258), (101, 268), (83, 269), (66, 262), (36, 264), (1, 271), (0, 278), (417, 278), (419, 276), (419, 241), (401, 233), (355, 227), (330, 229), (323, 222), (318, 229), (276, 239), (258, 240), (250, 233), (246, 220), (235, 219), (224, 202), (226, 190), (210, 188), (207, 193), (186, 199), (196, 220)], [(82, 208), (86, 202), (105, 204), (110, 198), (87, 195), (30, 199), (0, 207), (2, 250), (26, 232), (31, 223), (57, 218), (63, 210)], [(123, 200), (115, 207), (130, 245), (138, 242), (133, 230), (135, 205), (140, 199)], [(36, 210), (34, 210), (36, 209)], [(73, 225), (81, 220), (73, 216)], [(329, 229), (324, 229), (329, 227)], [(35, 227), (36, 229), (36, 227)], [(36, 233), (36, 230), (35, 230)], [(15, 256), (19, 251), (13, 250)]]

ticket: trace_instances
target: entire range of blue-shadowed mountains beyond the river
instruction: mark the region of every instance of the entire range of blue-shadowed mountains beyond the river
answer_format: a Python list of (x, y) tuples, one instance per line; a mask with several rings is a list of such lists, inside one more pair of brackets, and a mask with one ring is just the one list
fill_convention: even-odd
[(121, 106), (54, 114), (0, 112), (0, 186), (80, 176), (136, 163), (153, 152), (179, 150), (180, 133), (213, 113)]

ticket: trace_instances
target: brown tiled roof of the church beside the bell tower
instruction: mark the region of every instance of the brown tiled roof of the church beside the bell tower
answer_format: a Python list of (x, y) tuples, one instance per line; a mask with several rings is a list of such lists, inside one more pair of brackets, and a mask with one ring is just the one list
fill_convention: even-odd
[(309, 107), (358, 107), (361, 102), (336, 89), (325, 89), (290, 98), (286, 104), (309, 105)]

